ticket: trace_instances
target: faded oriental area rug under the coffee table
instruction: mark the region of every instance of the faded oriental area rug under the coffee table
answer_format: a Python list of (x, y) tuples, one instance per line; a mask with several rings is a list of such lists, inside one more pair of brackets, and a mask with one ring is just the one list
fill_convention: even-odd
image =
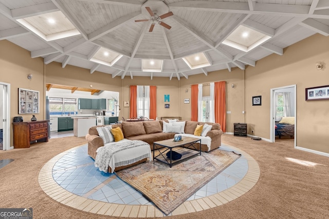
[(172, 168), (152, 161), (120, 170), (116, 174), (168, 215), (240, 156), (217, 149), (203, 152)]

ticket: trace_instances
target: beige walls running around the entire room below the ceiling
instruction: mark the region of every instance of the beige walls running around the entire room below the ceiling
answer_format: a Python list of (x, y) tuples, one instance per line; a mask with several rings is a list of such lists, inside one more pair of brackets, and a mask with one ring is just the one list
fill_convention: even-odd
[[(18, 88), (40, 91), (40, 114), (38, 120), (45, 118), (45, 83), (89, 87), (100, 90), (120, 92), (120, 117), (129, 117), (129, 107), (123, 107), (124, 101), (130, 101), (130, 85), (157, 86), (157, 116), (181, 116), (182, 120), (191, 119), (191, 105), (184, 104), (185, 98), (191, 98), (192, 84), (208, 84), (226, 81), (226, 130), (233, 132), (233, 123), (248, 123), (254, 135), (270, 138), (270, 89), (288, 85), (297, 85), (297, 146), (329, 153), (326, 146), (329, 141), (329, 126), (326, 116), (329, 114), (329, 101), (305, 101), (305, 88), (329, 85), (329, 72), (316, 69), (316, 63), (329, 63), (329, 38), (316, 34), (295, 45), (284, 49), (284, 55), (269, 55), (257, 62), (255, 67), (245, 70), (233, 68), (197, 74), (188, 79), (181, 77), (170, 80), (168, 77), (112, 78), (101, 72), (90, 74), (88, 69), (60, 63), (43, 64), (42, 58), (30, 58), (30, 52), (8, 42), (0, 41), (0, 81), (11, 84), (11, 115), (18, 115)], [(45, 72), (45, 73), (44, 73)], [(33, 74), (32, 80), (27, 74)], [(235, 87), (232, 88), (231, 84)], [(188, 89), (188, 92), (186, 92)], [(165, 109), (164, 95), (170, 95), (170, 108)], [(209, 87), (204, 87), (204, 96), (209, 95)], [(252, 106), (252, 96), (262, 96), (262, 106)], [(242, 113), (245, 111), (245, 114)], [(24, 115), (30, 120), (31, 114)], [(12, 136), (12, 133), (11, 133)], [(12, 137), (11, 137), (12, 138)], [(12, 145), (12, 142), (11, 142)]]

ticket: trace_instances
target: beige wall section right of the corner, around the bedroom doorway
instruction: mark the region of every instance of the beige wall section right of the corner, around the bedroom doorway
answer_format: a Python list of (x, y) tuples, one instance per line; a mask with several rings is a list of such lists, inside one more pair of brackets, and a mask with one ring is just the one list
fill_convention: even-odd
[[(329, 64), (329, 38), (320, 34), (246, 68), (246, 123), (255, 135), (270, 138), (270, 89), (296, 84), (297, 146), (329, 153), (329, 100), (305, 101), (305, 88), (329, 85), (329, 68), (317, 70), (317, 62)], [(262, 106), (252, 106), (252, 96), (258, 95)]]

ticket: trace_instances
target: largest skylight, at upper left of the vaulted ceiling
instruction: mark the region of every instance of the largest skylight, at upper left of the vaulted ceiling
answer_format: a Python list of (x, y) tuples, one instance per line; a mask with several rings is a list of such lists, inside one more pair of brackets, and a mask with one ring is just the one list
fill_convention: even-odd
[(61, 11), (25, 17), (16, 21), (45, 41), (54, 41), (80, 34)]

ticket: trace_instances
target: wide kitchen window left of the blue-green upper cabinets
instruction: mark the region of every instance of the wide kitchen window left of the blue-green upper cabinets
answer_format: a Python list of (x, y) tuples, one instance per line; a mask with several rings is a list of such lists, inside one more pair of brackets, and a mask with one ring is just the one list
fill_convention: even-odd
[(49, 97), (49, 110), (52, 112), (73, 112), (76, 109), (76, 98)]

